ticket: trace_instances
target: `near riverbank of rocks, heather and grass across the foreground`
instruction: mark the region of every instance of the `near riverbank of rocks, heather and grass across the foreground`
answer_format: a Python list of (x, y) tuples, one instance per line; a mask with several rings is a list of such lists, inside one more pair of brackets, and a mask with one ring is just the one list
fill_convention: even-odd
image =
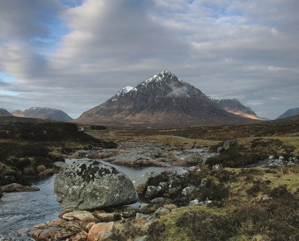
[(166, 171), (144, 187), (144, 194), (159, 191), (138, 207), (62, 212), (18, 233), (34, 240), (297, 240), (298, 174), (298, 165)]

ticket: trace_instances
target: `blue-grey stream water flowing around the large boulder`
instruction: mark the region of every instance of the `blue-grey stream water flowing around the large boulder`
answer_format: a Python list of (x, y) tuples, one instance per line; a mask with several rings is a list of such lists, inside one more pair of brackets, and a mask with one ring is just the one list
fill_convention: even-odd
[[(76, 159), (67, 159), (66, 163), (73, 163)], [(102, 163), (111, 165), (122, 171), (126, 176), (133, 180), (138, 176), (142, 176), (146, 171), (162, 171), (176, 170), (180, 171), (182, 167), (126, 167), (113, 165), (100, 160)], [(19, 229), (30, 228), (35, 224), (46, 222), (58, 218), (63, 208), (56, 202), (54, 194), (54, 179), (51, 176), (44, 180), (32, 183), (32, 186), (39, 187), (40, 191), (34, 192), (14, 192), (3, 193), (0, 200), (0, 240), (4, 235), (13, 233)], [(140, 200), (140, 202), (145, 202)], [(133, 206), (139, 206), (140, 202)], [(16, 238), (16, 240), (18, 240)]]

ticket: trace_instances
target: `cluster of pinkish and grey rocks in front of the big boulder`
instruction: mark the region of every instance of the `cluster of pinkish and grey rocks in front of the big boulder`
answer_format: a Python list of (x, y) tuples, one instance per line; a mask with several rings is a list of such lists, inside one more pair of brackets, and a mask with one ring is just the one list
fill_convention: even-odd
[[(17, 231), (20, 237), (30, 236), (34, 240), (100, 241), (118, 240), (121, 225), (148, 227), (161, 216), (175, 211), (175, 205), (159, 207), (143, 204), (140, 208), (123, 207), (104, 211), (71, 211), (60, 213), (60, 217), (36, 224), (31, 229)], [(8, 237), (7, 237), (8, 238)], [(146, 235), (136, 240), (146, 240)]]

